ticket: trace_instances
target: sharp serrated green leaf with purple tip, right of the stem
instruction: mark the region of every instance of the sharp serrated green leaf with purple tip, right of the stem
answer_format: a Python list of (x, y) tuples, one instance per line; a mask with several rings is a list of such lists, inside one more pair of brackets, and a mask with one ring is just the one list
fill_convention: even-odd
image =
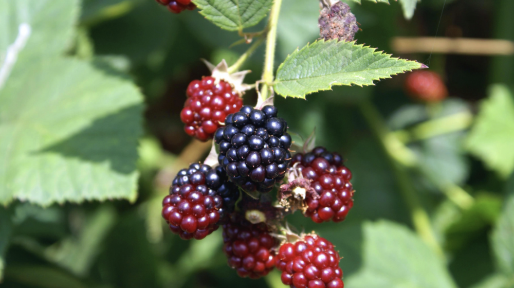
[(305, 98), (332, 85), (373, 85), (373, 80), (423, 67), (355, 42), (320, 40), (287, 57), (279, 66), (274, 89), (284, 97)]

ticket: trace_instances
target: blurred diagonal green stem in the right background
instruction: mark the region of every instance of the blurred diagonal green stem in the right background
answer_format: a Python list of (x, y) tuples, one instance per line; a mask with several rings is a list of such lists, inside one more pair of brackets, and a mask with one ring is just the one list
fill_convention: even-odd
[(402, 167), (400, 163), (398, 163), (398, 158), (391, 154), (392, 151), (394, 151), (390, 147), (391, 137), (388, 137), (388, 129), (384, 124), (380, 113), (370, 101), (363, 101), (360, 105), (360, 109), (364, 119), (368, 122), (371, 130), (382, 144), (385, 154), (388, 155), (389, 162), (393, 168), (393, 173), (403, 195), (403, 199), (405, 199), (409, 206), (412, 224), (414, 225), (416, 232), (419, 237), (432, 247), (439, 256), (443, 256), (443, 249), (437, 242), (432, 225), (430, 224), (428, 213), (421, 205), (405, 167)]

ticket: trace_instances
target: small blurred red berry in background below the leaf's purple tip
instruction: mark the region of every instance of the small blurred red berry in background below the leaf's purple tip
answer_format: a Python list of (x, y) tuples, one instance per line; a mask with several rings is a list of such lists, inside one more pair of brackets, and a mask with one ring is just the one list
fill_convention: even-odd
[(405, 89), (411, 97), (426, 102), (438, 102), (448, 96), (448, 89), (443, 79), (430, 70), (410, 73), (405, 81)]

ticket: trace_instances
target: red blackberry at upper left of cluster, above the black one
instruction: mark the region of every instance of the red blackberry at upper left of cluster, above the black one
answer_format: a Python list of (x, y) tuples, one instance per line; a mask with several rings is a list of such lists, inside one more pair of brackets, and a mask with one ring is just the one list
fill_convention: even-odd
[(200, 141), (211, 139), (225, 117), (243, 106), (243, 99), (229, 83), (221, 80), (216, 84), (211, 76), (193, 80), (187, 97), (180, 119), (186, 124), (186, 133)]

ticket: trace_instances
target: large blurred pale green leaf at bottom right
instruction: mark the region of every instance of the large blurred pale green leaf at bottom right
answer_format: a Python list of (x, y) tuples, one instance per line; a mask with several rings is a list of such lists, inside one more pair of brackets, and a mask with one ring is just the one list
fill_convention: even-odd
[(352, 288), (454, 288), (443, 262), (413, 232), (392, 222), (364, 224), (364, 265)]

